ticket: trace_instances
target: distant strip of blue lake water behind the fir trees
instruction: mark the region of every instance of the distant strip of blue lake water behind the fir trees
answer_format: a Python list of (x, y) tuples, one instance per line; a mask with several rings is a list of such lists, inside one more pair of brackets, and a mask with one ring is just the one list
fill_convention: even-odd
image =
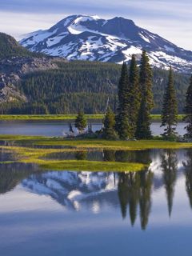
[[(93, 130), (100, 130), (102, 122), (92, 122)], [(163, 133), (160, 122), (153, 122), (151, 130), (154, 135)], [(177, 132), (185, 134), (185, 123), (179, 122)], [(76, 129), (74, 128), (74, 131)], [(20, 135), (39, 135), (39, 136), (63, 136), (69, 132), (69, 122), (67, 121), (0, 121), (0, 134), (20, 134)]]

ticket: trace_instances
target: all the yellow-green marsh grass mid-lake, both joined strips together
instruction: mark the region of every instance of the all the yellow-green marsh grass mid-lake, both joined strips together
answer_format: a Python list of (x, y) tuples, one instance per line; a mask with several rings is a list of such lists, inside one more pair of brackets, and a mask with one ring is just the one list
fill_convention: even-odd
[[(37, 136), (0, 135), (6, 142), (0, 149), (16, 156), (13, 162), (37, 164), (44, 170), (75, 171), (139, 171), (147, 167), (141, 162), (99, 162), (88, 160), (56, 160), (50, 154), (90, 150), (150, 150), (150, 149), (192, 149), (192, 143), (166, 142), (162, 140), (106, 141), (102, 139), (65, 139)], [(2, 143), (3, 144), (3, 143)], [(39, 146), (36, 148), (35, 146)], [(46, 148), (44, 148), (46, 146)], [(53, 148), (53, 146), (62, 146)], [(46, 158), (48, 157), (48, 158)], [(6, 162), (0, 162), (0, 164)], [(10, 163), (10, 162), (8, 162)]]

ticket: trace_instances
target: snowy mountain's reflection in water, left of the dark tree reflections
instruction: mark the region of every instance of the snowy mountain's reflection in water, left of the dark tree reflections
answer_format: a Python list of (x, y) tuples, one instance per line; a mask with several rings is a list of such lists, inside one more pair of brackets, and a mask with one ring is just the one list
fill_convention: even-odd
[[(48, 194), (54, 200), (73, 210), (82, 206), (90, 207), (94, 202), (105, 202), (108, 193), (115, 192), (113, 173), (91, 173), (53, 171), (45, 174), (33, 174), (22, 181), (22, 185), (37, 194)], [(116, 192), (115, 192), (116, 193)], [(100, 196), (102, 194), (102, 196)], [(109, 199), (109, 198), (108, 198)], [(108, 202), (108, 199), (106, 202)], [(111, 197), (113, 205), (118, 203)]]

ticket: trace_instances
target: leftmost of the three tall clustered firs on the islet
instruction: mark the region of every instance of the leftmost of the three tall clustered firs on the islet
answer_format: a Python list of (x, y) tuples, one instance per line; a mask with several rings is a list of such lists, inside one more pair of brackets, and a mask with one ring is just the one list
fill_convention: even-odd
[(115, 129), (121, 139), (129, 138), (129, 76), (126, 63), (122, 64), (121, 78), (118, 83), (118, 111)]

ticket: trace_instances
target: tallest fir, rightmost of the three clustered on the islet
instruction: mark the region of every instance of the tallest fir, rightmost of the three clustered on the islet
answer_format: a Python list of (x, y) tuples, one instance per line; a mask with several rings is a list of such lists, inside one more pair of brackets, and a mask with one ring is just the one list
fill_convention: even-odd
[(138, 122), (135, 134), (137, 138), (151, 138), (150, 111), (154, 107), (154, 98), (152, 93), (152, 70), (149, 61), (146, 50), (143, 50), (139, 78), (141, 105), (138, 111)]

